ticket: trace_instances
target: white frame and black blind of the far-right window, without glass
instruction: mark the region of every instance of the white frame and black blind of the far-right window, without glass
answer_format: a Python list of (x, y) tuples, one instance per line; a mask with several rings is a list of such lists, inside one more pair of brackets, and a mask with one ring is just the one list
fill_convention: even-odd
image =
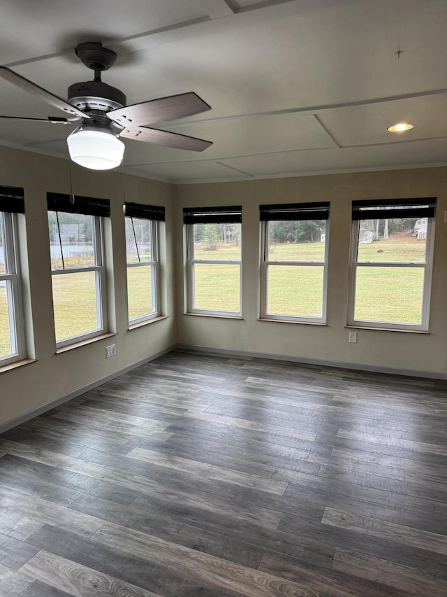
[[(434, 253), (434, 227), (435, 227), (435, 208), (436, 197), (427, 197), (422, 199), (388, 199), (370, 201), (355, 201), (353, 202), (353, 219), (351, 223), (351, 250), (349, 262), (349, 291), (348, 291), (348, 314), (346, 318), (346, 327), (348, 328), (365, 328), (368, 330), (389, 330), (395, 332), (425, 332), (429, 331), (430, 319), (430, 298), (432, 288), (432, 271), (433, 271), (433, 253)], [(424, 206), (430, 205), (429, 209)], [(399, 207), (402, 206), (402, 209)], [(360, 213), (362, 208), (365, 209), (363, 213), (374, 213), (372, 207), (383, 210), (389, 210), (389, 218), (361, 218)], [(368, 209), (371, 211), (368, 212)], [(425, 210), (425, 211), (424, 211)], [(384, 211), (376, 215), (383, 216)], [(430, 215), (427, 215), (430, 214)], [(360, 221), (367, 219), (402, 219), (402, 218), (420, 218), (427, 217), (427, 237), (425, 240), (425, 261), (424, 262), (396, 262), (396, 261), (374, 261), (374, 262), (358, 262), (358, 237), (360, 234)], [(355, 319), (356, 310), (356, 280), (357, 270), (361, 267), (400, 267), (406, 269), (423, 269), (423, 293), (422, 293), (422, 307), (421, 307), (421, 321), (420, 324), (415, 323), (395, 323), (389, 321), (369, 321)]]

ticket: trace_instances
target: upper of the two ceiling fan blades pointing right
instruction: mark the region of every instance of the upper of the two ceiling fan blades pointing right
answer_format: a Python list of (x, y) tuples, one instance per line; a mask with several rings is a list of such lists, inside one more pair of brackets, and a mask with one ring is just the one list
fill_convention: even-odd
[(107, 113), (108, 118), (123, 127), (154, 125), (156, 122), (177, 120), (211, 110), (211, 106), (194, 92), (142, 101)]

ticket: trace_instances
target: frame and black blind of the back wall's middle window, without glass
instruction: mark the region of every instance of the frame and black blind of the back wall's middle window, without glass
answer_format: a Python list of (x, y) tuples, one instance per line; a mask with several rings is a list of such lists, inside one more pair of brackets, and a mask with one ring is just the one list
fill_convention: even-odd
[[(328, 255), (329, 255), (329, 228), (330, 228), (330, 202), (298, 203), (298, 204), (273, 204), (260, 205), (261, 219), (261, 293), (259, 318), (266, 321), (284, 321), (286, 323), (307, 323), (326, 325), (328, 303)], [(275, 261), (268, 258), (269, 223), (273, 221), (308, 221), (325, 220), (325, 247), (323, 261)], [(270, 265), (323, 267), (323, 289), (321, 317), (270, 314), (268, 313), (268, 268)]]

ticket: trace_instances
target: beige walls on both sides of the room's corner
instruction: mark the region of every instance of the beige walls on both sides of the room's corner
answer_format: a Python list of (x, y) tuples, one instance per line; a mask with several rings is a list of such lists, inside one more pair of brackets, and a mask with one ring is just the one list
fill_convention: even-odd
[[(163, 314), (168, 318), (135, 330), (127, 329), (122, 174), (89, 171), (75, 164), (71, 168), (75, 194), (104, 197), (111, 202), (106, 235), (112, 251), (108, 251), (106, 265), (109, 325), (116, 335), (55, 353), (46, 192), (71, 192), (68, 162), (0, 147), (0, 183), (25, 190), (21, 250), (24, 279), (29, 283), (24, 288), (24, 302), (28, 352), (36, 358), (34, 363), (0, 372), (0, 426), (148, 360), (176, 342), (447, 377), (447, 168), (179, 186), (126, 176), (126, 200), (166, 206), (161, 283)], [(358, 330), (358, 344), (349, 344), (345, 325), (351, 200), (427, 196), (438, 197), (430, 334)], [(258, 321), (259, 204), (328, 199), (328, 325)], [(182, 208), (225, 204), (242, 204), (243, 318), (185, 315)], [(106, 360), (105, 346), (112, 342), (117, 345), (117, 356)]]

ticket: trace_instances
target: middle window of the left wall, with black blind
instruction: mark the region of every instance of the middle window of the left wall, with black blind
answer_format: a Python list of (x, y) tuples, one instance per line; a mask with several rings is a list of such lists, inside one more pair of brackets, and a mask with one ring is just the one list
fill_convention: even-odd
[(58, 347), (100, 335), (106, 328), (102, 220), (110, 216), (109, 202), (73, 199), (47, 194)]

